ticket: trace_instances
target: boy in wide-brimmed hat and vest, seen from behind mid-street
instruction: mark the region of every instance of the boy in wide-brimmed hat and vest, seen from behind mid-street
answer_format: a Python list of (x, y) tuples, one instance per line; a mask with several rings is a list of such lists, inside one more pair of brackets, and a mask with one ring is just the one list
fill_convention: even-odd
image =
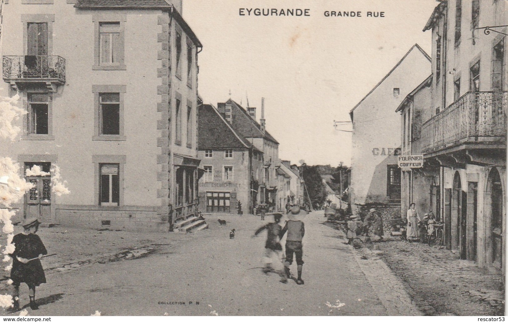
[(305, 226), (302, 219), (305, 218), (306, 211), (300, 209), (299, 206), (293, 206), (291, 211), (288, 213), (289, 221), (285, 224), (284, 228), (280, 232), (280, 238), (284, 236), (286, 232), (288, 232), (288, 236), (286, 237), (285, 244), (285, 253), (286, 258), (284, 262), (284, 272), (285, 276), (282, 276), (281, 282), (286, 283), (287, 278), (291, 278), (291, 272), (289, 267), (293, 263), (293, 254), (296, 256), (296, 265), (298, 271), (298, 278), (296, 283), (298, 285), (303, 284), (302, 279), (302, 268), (303, 268), (303, 246), (302, 239), (305, 234)]

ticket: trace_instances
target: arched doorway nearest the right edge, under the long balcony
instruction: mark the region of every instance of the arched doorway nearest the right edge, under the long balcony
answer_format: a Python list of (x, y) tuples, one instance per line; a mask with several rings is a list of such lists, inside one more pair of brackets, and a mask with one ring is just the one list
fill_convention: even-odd
[[(490, 197), (489, 197), (490, 194)], [(496, 168), (489, 173), (487, 181), (487, 202), (490, 201), (490, 262), (492, 266), (501, 269), (503, 261), (503, 188), (501, 176)], [(489, 205), (487, 205), (489, 207)]]

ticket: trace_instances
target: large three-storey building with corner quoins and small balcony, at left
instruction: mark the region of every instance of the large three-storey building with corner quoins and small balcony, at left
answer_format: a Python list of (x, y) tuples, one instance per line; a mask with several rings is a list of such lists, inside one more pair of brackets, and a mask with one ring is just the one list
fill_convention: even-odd
[(29, 0), (3, 8), (3, 93), (19, 93), (21, 137), (0, 155), (58, 166), (69, 195), (30, 176), (23, 216), (160, 229), (197, 214), (202, 45), (181, 1)]

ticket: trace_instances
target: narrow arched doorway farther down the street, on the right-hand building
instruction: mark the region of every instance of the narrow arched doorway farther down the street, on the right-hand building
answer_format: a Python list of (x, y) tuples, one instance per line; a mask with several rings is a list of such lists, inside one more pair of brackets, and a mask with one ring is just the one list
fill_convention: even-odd
[[(467, 226), (467, 195), (462, 191), (462, 183), (459, 171), (455, 172), (453, 178), (452, 191), (452, 223), (456, 223), (456, 227), (452, 227), (455, 232), (455, 246), (460, 251), (460, 258), (466, 259), (466, 226)], [(455, 218), (454, 218), (455, 217)]]

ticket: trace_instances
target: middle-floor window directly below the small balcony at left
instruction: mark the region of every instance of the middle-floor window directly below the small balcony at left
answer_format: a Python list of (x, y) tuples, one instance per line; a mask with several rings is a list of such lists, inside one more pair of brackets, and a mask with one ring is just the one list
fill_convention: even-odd
[(48, 94), (28, 94), (28, 134), (49, 134)]

